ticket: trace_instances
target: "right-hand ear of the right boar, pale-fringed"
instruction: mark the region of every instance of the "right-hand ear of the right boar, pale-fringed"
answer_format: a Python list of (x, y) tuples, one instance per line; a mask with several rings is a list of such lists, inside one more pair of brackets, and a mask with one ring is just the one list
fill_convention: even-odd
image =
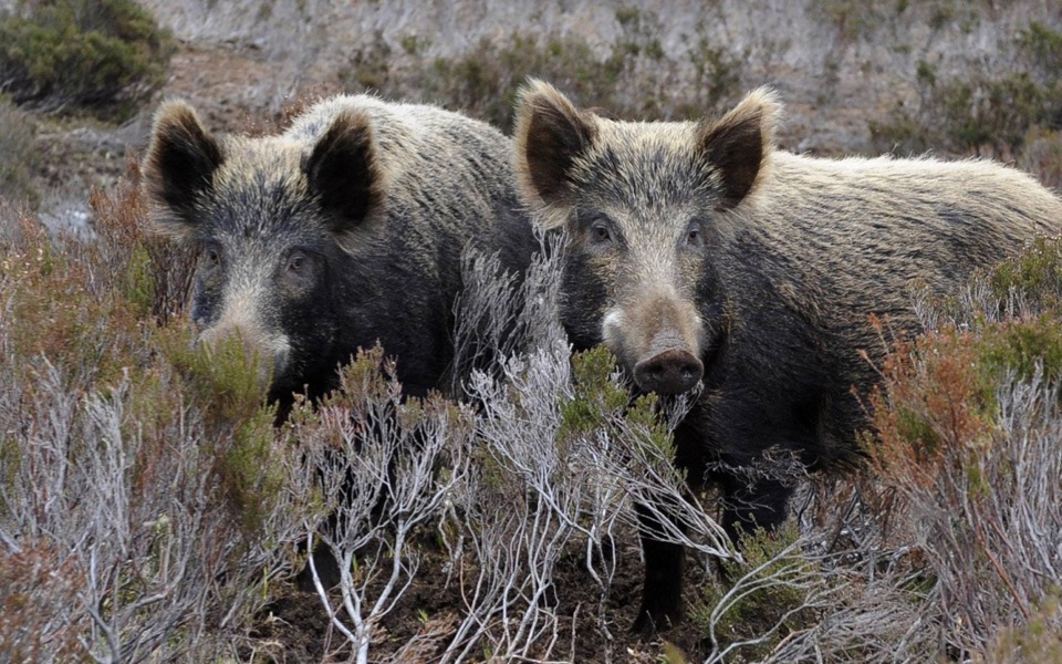
[(721, 209), (737, 207), (762, 180), (780, 113), (774, 93), (760, 87), (720, 121), (698, 127), (698, 148), (719, 175)]

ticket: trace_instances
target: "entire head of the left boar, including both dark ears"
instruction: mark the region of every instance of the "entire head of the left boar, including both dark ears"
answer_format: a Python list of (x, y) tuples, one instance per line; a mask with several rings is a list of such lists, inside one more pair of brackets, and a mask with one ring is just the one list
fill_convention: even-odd
[(306, 146), (218, 141), (180, 102), (156, 117), (145, 184), (164, 228), (199, 250), (199, 341), (238, 338), (272, 398), (326, 388), (316, 376), (335, 373), (332, 350), (352, 326), (339, 311), (357, 303), (344, 290), (356, 266), (341, 242), (378, 204), (373, 162), (371, 126), (356, 114), (337, 115)]

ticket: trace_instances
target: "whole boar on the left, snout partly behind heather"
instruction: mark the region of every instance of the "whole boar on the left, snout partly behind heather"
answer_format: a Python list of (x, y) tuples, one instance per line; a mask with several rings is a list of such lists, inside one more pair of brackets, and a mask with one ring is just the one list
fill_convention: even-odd
[(163, 232), (205, 252), (192, 298), (205, 339), (236, 329), (272, 356), (274, 398), (326, 392), (377, 341), (407, 393), (424, 394), (452, 354), (461, 251), (529, 260), (510, 154), (487, 124), (368, 95), (322, 101), (263, 137), (211, 135), (170, 101), (144, 186)]

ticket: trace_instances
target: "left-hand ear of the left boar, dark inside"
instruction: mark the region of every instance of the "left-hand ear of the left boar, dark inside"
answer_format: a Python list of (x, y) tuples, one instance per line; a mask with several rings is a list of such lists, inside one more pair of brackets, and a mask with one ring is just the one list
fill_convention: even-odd
[(212, 186), (222, 159), (221, 148), (195, 108), (181, 101), (159, 107), (147, 147), (144, 186), (148, 198), (171, 212), (158, 219), (164, 230), (175, 236), (191, 230), (196, 200)]

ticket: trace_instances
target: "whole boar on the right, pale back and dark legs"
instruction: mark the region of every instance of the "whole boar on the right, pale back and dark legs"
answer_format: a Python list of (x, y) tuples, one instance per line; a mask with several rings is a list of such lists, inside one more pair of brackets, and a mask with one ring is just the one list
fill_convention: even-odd
[[(533, 81), (513, 170), (538, 224), (563, 228), (561, 320), (605, 343), (644, 391), (698, 402), (675, 433), (693, 490), (721, 490), (732, 537), (785, 517), (763, 459), (858, 464), (878, 380), (875, 314), (917, 330), (909, 286), (946, 293), (976, 268), (1062, 229), (1062, 201), (990, 162), (819, 159), (774, 146), (781, 106), (749, 94), (718, 121), (616, 122)], [(870, 362), (862, 353), (866, 354)], [(763, 474), (767, 470), (767, 475)], [(639, 509), (646, 578), (636, 629), (681, 615), (681, 547)]]

